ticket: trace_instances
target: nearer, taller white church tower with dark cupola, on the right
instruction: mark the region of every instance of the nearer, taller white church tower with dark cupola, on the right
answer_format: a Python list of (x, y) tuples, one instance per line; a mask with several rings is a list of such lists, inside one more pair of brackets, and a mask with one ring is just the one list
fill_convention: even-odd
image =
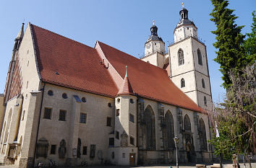
[(197, 27), (182, 4), (180, 20), (174, 29), (174, 44), (168, 46), (171, 81), (197, 105), (212, 110), (212, 97), (206, 46), (197, 36)]

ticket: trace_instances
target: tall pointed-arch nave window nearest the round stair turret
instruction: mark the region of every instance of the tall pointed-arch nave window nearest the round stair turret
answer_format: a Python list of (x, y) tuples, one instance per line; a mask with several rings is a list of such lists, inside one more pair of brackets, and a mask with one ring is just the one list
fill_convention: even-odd
[(150, 106), (145, 109), (146, 149), (155, 149), (155, 114)]

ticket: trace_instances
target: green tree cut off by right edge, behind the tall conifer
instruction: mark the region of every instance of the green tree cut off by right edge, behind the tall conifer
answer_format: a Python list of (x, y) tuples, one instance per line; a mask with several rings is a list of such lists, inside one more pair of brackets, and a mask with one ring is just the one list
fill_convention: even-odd
[(252, 12), (252, 32), (247, 33), (247, 40), (244, 41), (244, 49), (248, 59), (253, 63), (256, 60), (256, 17)]

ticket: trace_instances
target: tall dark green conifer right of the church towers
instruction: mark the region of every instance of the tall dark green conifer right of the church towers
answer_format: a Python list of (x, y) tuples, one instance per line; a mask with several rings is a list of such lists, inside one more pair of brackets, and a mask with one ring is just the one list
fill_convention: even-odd
[(237, 18), (233, 14), (233, 9), (228, 9), (229, 1), (226, 0), (211, 0), (214, 8), (210, 15), (213, 17), (210, 20), (215, 22), (217, 30), (212, 31), (216, 35), (216, 43), (214, 47), (217, 58), (214, 59), (221, 64), (221, 73), (223, 76), (223, 87), (228, 89), (231, 87), (229, 79), (230, 69), (242, 68), (247, 65), (247, 57), (243, 47), (244, 35), (241, 30), (244, 26), (237, 26), (234, 22)]

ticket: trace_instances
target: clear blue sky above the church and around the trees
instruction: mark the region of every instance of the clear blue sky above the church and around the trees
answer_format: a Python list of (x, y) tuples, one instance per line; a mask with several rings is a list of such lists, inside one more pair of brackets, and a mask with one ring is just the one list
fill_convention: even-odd
[[(213, 61), (216, 58), (215, 35), (210, 31), (216, 27), (209, 16), (213, 6), (210, 0), (184, 0), (184, 6), (189, 10), (189, 19), (198, 27), (200, 39), (207, 46), (213, 101), (218, 102), (225, 91), (221, 87), (219, 65)], [(166, 45), (174, 41), (173, 32), (181, 8), (182, 0), (0, 1), (0, 93), (4, 92), (14, 38), (24, 19), (25, 25), (31, 22), (91, 47), (99, 40), (140, 57), (153, 19), (158, 26), (158, 35)], [(231, 0), (229, 8), (235, 9), (234, 14), (239, 17), (236, 24), (245, 25), (242, 32), (250, 32), (256, 1)]]

